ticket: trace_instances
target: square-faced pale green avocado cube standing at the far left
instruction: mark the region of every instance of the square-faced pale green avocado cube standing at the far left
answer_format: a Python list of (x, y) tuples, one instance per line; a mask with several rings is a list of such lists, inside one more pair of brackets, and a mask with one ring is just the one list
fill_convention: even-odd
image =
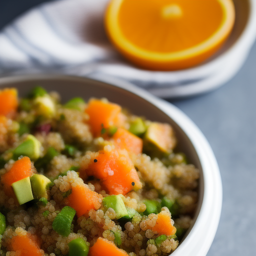
[(18, 203), (21, 205), (25, 202), (33, 200), (30, 178), (22, 178), (11, 184)]

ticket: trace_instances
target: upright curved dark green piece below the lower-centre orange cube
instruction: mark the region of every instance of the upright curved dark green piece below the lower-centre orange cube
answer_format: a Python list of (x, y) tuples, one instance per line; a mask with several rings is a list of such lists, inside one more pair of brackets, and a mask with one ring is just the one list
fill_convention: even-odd
[(52, 222), (53, 230), (62, 236), (68, 236), (74, 215), (75, 210), (72, 207), (64, 206)]

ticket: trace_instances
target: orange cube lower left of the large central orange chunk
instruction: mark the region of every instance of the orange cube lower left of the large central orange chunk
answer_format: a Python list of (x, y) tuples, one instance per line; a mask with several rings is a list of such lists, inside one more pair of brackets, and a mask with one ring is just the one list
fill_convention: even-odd
[(72, 192), (66, 197), (66, 204), (76, 210), (77, 217), (88, 216), (90, 209), (97, 210), (103, 196), (88, 188), (84, 183), (72, 185)]

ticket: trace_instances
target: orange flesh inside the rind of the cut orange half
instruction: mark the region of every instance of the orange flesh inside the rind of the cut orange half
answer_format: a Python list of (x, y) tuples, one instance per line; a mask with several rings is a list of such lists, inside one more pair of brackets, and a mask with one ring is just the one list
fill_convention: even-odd
[(222, 19), (216, 0), (151, 0), (146, 4), (144, 0), (123, 0), (118, 13), (119, 25), (129, 41), (149, 51), (168, 53), (206, 40)]

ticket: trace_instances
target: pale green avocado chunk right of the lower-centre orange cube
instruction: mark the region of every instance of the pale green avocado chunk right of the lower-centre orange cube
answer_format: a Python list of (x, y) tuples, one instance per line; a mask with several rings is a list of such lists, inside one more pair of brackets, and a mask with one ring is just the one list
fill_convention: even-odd
[(119, 195), (106, 196), (102, 202), (106, 208), (112, 208), (115, 211), (116, 219), (128, 215), (124, 202)]

